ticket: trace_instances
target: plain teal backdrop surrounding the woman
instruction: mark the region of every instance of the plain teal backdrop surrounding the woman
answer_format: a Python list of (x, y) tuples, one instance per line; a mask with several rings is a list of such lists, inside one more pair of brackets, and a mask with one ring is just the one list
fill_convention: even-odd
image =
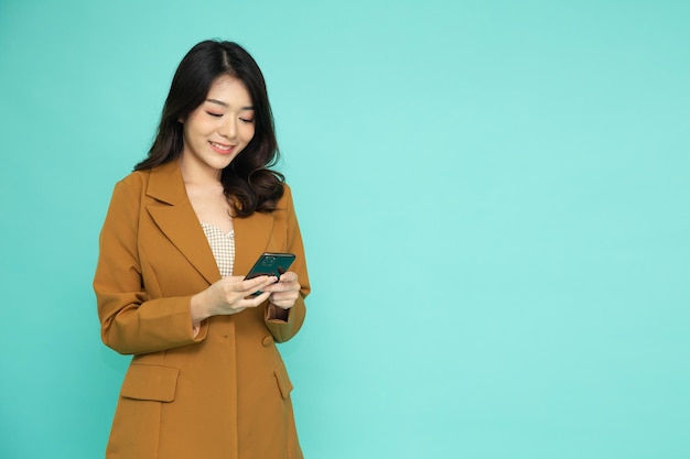
[(689, 23), (0, 0), (0, 457), (103, 457), (129, 359), (99, 340), (98, 231), (177, 63), (222, 37), (265, 72), (305, 238), (281, 351), (308, 458), (690, 458)]

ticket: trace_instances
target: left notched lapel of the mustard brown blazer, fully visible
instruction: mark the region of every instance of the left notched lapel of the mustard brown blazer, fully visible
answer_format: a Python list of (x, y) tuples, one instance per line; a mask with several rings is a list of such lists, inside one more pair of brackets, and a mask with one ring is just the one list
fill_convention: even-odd
[(157, 200), (147, 205), (147, 210), (165, 237), (209, 284), (219, 280), (218, 265), (187, 198), (177, 161), (151, 171), (147, 195)]

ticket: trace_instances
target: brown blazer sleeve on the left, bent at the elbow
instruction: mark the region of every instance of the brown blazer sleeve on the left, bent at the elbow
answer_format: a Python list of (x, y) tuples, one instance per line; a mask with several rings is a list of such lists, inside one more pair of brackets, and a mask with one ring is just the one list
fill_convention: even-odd
[[(137, 189), (141, 188), (141, 189)], [(99, 238), (94, 277), (101, 339), (125, 354), (148, 353), (205, 339), (207, 324), (193, 336), (191, 296), (151, 299), (139, 256), (139, 215), (143, 184), (119, 182)]]

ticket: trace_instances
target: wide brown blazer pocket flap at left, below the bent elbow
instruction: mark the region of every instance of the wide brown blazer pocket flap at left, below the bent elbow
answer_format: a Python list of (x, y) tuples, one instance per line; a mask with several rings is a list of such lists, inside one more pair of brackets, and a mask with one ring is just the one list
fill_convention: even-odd
[(134, 363), (127, 370), (120, 395), (134, 400), (172, 402), (175, 400), (176, 368)]

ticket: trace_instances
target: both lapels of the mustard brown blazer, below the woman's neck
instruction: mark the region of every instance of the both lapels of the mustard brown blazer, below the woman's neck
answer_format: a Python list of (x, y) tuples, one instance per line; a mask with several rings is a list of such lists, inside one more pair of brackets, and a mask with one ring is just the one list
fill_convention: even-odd
[[(209, 284), (219, 280), (218, 265), (187, 197), (177, 161), (151, 170), (147, 195), (155, 200), (147, 206), (147, 210), (161, 231)], [(255, 212), (251, 217), (235, 218), (233, 227), (233, 274), (244, 275), (268, 248), (273, 230), (273, 214)]]

